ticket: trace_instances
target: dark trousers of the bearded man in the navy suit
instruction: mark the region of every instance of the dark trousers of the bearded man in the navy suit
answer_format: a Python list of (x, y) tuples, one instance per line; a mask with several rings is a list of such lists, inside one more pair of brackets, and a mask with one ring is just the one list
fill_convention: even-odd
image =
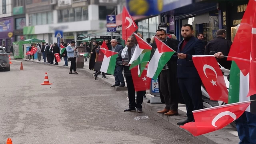
[(203, 108), (202, 81), (200, 78), (179, 78), (178, 84), (186, 104), (188, 120), (192, 121), (194, 120), (192, 111)]

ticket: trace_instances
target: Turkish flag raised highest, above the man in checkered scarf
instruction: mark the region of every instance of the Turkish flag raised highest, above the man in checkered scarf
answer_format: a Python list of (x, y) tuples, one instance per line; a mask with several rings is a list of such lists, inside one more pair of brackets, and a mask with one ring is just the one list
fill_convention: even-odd
[(127, 38), (137, 29), (138, 26), (124, 7), (122, 12), (122, 39), (126, 41)]

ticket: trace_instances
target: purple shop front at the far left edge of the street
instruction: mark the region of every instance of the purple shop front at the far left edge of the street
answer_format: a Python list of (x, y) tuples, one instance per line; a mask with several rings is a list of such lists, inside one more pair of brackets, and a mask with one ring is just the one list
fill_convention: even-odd
[(5, 46), (8, 51), (14, 42), (13, 24), (13, 17), (0, 18), (0, 45)]

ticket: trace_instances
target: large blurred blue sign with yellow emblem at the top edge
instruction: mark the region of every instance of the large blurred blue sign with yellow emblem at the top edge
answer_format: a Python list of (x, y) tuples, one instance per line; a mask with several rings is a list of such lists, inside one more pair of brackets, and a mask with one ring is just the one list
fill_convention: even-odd
[(126, 0), (127, 10), (131, 16), (158, 15), (192, 4), (192, 0)]

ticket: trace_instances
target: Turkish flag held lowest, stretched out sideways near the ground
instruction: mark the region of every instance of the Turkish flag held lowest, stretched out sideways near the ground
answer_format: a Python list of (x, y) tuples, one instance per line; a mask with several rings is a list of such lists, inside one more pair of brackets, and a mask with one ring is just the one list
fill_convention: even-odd
[(239, 118), (250, 103), (250, 101), (237, 102), (195, 110), (193, 111), (195, 122), (189, 122), (180, 127), (188, 130), (194, 136), (222, 129)]

